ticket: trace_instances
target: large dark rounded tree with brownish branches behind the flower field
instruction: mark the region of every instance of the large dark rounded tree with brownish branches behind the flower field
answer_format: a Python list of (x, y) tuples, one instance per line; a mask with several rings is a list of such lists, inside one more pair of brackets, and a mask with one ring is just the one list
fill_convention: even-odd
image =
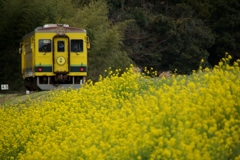
[(214, 35), (191, 6), (180, 1), (134, 1), (116, 12), (112, 19), (136, 22), (128, 26), (124, 44), (139, 66), (191, 73), (208, 58)]

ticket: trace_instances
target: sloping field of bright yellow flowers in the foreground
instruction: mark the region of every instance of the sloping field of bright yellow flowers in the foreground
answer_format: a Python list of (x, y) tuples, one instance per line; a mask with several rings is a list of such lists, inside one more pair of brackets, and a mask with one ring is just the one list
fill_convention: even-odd
[[(106, 71), (0, 108), (0, 159), (239, 160), (240, 61), (190, 76)], [(150, 74), (150, 71), (147, 71)]]

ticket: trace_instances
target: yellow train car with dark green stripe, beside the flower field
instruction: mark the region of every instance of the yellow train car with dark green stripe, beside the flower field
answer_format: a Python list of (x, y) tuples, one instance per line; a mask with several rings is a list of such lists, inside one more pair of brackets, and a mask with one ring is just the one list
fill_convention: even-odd
[(80, 88), (87, 76), (87, 32), (66, 24), (46, 24), (20, 43), (21, 72), (28, 90)]

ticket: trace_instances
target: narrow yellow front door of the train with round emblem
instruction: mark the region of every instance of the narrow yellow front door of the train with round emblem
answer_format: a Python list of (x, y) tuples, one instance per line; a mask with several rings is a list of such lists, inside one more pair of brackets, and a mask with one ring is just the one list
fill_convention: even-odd
[(66, 74), (69, 72), (69, 50), (68, 38), (55, 37), (54, 38), (54, 52), (53, 52), (53, 72), (59, 74)]

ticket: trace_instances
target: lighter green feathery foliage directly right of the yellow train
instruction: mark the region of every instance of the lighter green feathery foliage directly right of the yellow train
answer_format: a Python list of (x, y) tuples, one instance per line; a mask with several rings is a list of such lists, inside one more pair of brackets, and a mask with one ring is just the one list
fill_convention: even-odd
[(79, 8), (68, 20), (69, 24), (83, 27), (90, 37), (88, 78), (98, 80), (108, 67), (125, 68), (130, 59), (122, 50), (123, 31), (128, 21), (112, 24), (108, 19), (108, 6), (103, 0)]

